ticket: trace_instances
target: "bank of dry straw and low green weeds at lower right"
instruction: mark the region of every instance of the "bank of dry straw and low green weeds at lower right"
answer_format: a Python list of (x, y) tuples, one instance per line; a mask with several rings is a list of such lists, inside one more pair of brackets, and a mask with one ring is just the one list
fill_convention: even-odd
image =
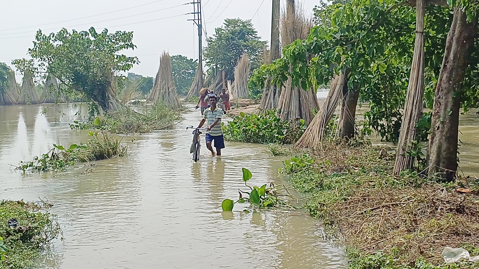
[(324, 142), (315, 164), (293, 174), (308, 212), (348, 247), (393, 255), (398, 264), (442, 264), (444, 247), (479, 242), (479, 179), (449, 184), (416, 173), (393, 176), (394, 150)]

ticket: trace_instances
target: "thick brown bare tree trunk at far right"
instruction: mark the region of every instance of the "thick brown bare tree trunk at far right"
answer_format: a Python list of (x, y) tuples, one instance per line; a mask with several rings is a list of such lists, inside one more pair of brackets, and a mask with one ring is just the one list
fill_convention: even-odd
[(452, 181), (457, 171), (460, 100), (454, 96), (458, 95), (465, 77), (476, 34), (477, 19), (467, 22), (466, 13), (455, 8), (435, 89), (429, 140), (429, 176), (444, 173), (441, 177), (447, 181)]

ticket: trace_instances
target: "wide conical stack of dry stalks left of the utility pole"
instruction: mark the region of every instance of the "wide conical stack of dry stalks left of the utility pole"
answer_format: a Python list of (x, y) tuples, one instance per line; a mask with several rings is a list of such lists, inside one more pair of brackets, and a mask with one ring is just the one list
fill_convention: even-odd
[(172, 108), (182, 106), (178, 98), (178, 93), (176, 92), (173, 75), (171, 74), (171, 57), (166, 52), (163, 52), (160, 58), (160, 67), (158, 68), (153, 88), (148, 94), (147, 101), (163, 101), (167, 106)]

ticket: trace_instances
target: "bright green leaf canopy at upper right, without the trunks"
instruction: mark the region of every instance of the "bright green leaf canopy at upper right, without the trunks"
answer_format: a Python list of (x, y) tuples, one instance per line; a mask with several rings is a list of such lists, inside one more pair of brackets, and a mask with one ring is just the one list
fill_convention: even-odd
[[(397, 141), (411, 70), (415, 26), (414, 7), (397, 4), (394, 0), (323, 3), (316, 9), (317, 25), (308, 37), (286, 46), (282, 58), (255, 69), (250, 87), (262, 88), (268, 78), (282, 84), (291, 76), (293, 85), (309, 90), (328, 84), (334, 74), (346, 71), (348, 88), (360, 90), (361, 100), (370, 105), (370, 111), (365, 113), (363, 133), (375, 131), (382, 140)], [(434, 81), (439, 75), (452, 21), (451, 10), (426, 6), (424, 81), (425, 103), (429, 108), (432, 108)], [(476, 43), (468, 59), (470, 66), (464, 87), (456, 92), (465, 110), (479, 106), (478, 48)]]

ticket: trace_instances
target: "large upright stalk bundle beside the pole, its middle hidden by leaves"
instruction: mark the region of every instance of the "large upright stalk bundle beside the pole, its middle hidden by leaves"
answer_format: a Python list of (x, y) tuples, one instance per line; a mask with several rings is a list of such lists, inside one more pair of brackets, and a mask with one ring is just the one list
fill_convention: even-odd
[[(281, 40), (283, 48), (297, 39), (305, 39), (308, 36), (312, 23), (300, 4), (295, 5), (288, 2), (282, 17)], [(271, 96), (266, 98), (271, 98)], [(293, 87), (291, 77), (288, 78), (278, 100), (280, 118), (282, 120), (301, 118), (309, 124), (313, 120), (313, 107), (318, 107), (314, 93), (307, 93), (301, 87)]]

